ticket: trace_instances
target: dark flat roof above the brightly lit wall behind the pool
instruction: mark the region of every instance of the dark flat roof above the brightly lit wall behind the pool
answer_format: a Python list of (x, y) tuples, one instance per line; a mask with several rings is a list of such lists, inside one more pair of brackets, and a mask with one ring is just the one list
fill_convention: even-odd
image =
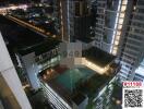
[(104, 68), (115, 60), (115, 56), (100, 50), (99, 48), (92, 47), (89, 49), (83, 50), (82, 53), (88, 61)]

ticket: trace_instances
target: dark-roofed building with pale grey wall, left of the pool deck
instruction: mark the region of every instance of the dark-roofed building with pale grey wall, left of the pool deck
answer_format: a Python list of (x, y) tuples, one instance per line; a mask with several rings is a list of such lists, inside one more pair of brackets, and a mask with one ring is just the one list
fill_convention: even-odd
[(38, 72), (57, 64), (57, 61), (60, 60), (58, 55), (59, 43), (53, 38), (47, 38), (38, 44), (17, 48), (15, 52), (17, 62), (22, 64), (23, 73), (26, 73), (34, 89), (39, 88)]

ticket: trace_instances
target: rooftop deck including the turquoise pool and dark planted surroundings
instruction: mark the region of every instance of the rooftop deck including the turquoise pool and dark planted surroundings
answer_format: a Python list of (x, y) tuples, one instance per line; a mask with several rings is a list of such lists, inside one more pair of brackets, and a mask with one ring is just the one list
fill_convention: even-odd
[(98, 74), (87, 66), (69, 69), (57, 65), (50, 69), (53, 74), (49, 72), (49, 73), (47, 71), (40, 73), (43, 82), (47, 83), (70, 106), (72, 101), (76, 105), (81, 104), (85, 95), (94, 97), (113, 76), (113, 74)]

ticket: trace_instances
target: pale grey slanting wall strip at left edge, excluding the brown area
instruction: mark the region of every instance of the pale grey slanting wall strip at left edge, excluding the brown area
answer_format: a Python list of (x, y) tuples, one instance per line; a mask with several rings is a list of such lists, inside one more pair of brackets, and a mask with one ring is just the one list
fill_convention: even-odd
[(22, 109), (32, 109), (0, 33), (0, 72)]

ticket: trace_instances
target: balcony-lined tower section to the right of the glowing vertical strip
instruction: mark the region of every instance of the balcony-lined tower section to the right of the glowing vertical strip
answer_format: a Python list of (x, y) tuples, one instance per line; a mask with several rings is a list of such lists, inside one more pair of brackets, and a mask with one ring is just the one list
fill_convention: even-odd
[(127, 7), (118, 49), (118, 57), (122, 64), (119, 74), (121, 81), (132, 81), (134, 71), (144, 56), (144, 1), (123, 0), (123, 2)]

